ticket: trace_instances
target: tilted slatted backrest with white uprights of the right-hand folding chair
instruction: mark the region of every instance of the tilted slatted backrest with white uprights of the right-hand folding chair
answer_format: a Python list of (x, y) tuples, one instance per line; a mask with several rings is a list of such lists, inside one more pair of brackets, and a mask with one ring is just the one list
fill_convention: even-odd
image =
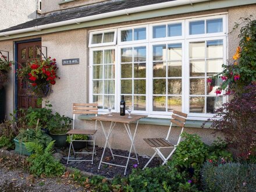
[[(170, 136), (170, 130), (172, 129), (172, 124), (173, 123), (175, 125), (179, 126), (179, 127), (182, 127), (182, 130), (180, 131), (180, 135), (181, 135), (183, 133), (184, 125), (186, 123), (186, 120), (187, 120), (187, 114), (186, 113), (182, 113), (182, 112), (179, 112), (179, 111), (173, 111), (172, 119), (170, 119), (170, 127), (169, 127), (168, 134), (167, 134), (165, 139), (168, 140), (168, 138)], [(180, 139), (181, 139), (180, 135), (179, 135), (177, 144), (180, 143)]]

